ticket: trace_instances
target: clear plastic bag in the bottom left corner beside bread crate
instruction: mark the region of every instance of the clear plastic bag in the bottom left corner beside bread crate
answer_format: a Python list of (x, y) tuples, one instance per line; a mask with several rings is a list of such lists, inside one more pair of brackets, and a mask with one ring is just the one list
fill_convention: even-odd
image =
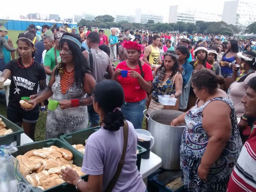
[(30, 192), (32, 185), (21, 182), (19, 162), (11, 154), (17, 152), (17, 142), (0, 146), (0, 192)]

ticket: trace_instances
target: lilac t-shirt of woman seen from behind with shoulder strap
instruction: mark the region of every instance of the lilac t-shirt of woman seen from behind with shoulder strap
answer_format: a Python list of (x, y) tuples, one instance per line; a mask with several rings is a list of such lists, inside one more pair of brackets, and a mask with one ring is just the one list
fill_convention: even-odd
[[(113, 192), (136, 191), (145, 192), (146, 185), (139, 173), (136, 161), (137, 135), (133, 124), (128, 123), (128, 143), (125, 164)], [(105, 191), (110, 180), (116, 173), (117, 165), (123, 150), (123, 127), (118, 131), (100, 128), (90, 135), (86, 142), (83, 166), (81, 171), (88, 175), (103, 174), (103, 188)]]

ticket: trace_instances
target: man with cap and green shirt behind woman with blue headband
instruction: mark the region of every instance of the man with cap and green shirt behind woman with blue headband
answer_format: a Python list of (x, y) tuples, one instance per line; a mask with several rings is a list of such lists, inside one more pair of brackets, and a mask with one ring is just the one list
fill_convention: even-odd
[(48, 76), (51, 76), (52, 74), (52, 70), (54, 69), (54, 67), (58, 64), (58, 62), (60, 61), (60, 57), (59, 57), (59, 41), (62, 38), (62, 33), (61, 32), (57, 32), (54, 35), (54, 43), (55, 46), (52, 47), (49, 51), (47, 51), (45, 53), (45, 58), (44, 58), (44, 69), (45, 69), (45, 73)]

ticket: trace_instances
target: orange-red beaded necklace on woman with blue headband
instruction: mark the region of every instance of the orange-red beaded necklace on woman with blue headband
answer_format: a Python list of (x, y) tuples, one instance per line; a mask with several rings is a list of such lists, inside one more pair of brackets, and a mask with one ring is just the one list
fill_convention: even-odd
[(71, 88), (75, 80), (75, 71), (74, 69), (70, 72), (64, 69), (64, 72), (61, 74), (60, 77), (60, 89), (62, 94), (65, 95), (66, 92)]

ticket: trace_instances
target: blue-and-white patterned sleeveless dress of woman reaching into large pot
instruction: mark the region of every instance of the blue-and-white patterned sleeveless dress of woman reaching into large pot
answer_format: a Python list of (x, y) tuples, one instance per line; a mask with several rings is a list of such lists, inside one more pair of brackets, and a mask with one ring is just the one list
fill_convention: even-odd
[[(197, 174), (197, 168), (209, 140), (202, 126), (202, 112), (207, 104), (217, 100), (227, 103), (231, 108), (232, 131), (230, 140), (226, 143), (219, 159), (211, 166), (207, 181), (204, 182)], [(184, 129), (180, 146), (181, 179), (188, 192), (226, 192), (230, 174), (242, 149), (235, 107), (232, 101), (225, 97), (213, 98), (201, 107), (198, 107), (198, 101), (185, 116), (187, 127)]]

